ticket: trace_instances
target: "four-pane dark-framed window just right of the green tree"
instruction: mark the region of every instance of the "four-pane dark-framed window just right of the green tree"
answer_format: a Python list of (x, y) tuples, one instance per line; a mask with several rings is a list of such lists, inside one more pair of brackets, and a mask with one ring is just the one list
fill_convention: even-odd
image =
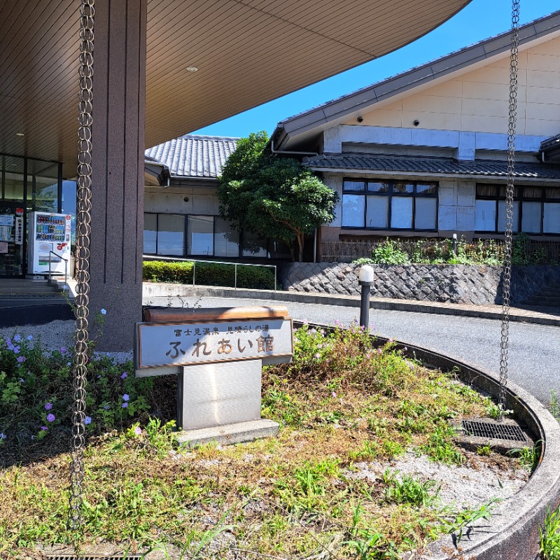
[(342, 227), (367, 230), (437, 230), (437, 183), (345, 180)]

